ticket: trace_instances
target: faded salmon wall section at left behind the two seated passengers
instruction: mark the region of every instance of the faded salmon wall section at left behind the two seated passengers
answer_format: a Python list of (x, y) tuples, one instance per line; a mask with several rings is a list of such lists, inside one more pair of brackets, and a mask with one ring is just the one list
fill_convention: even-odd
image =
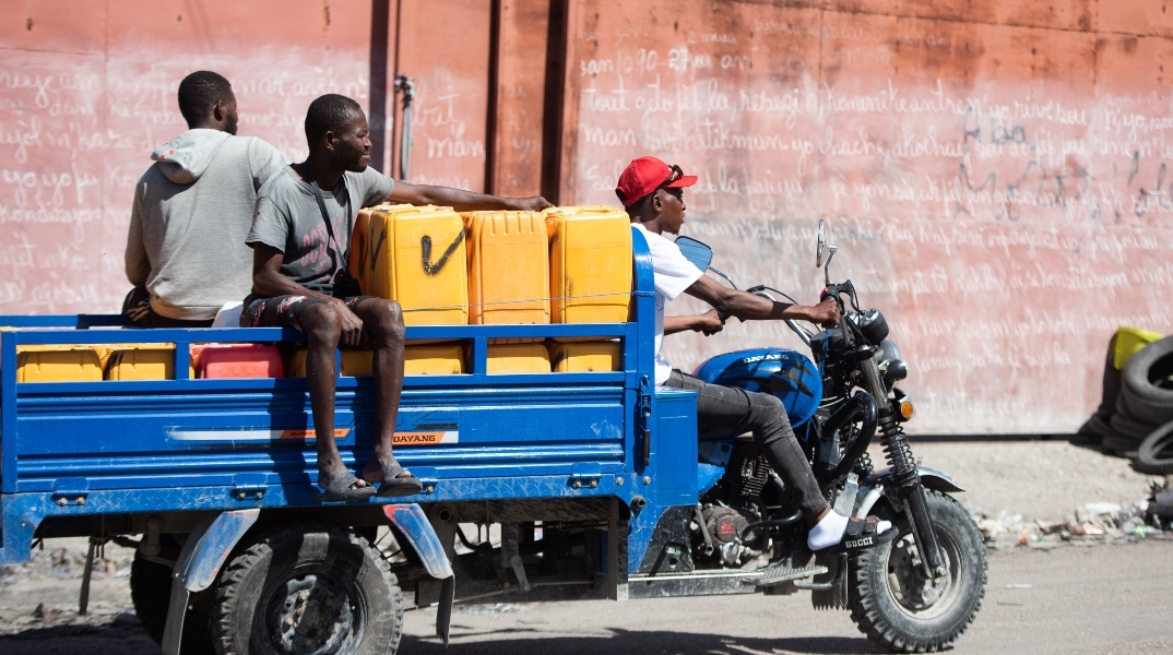
[(175, 94), (225, 75), (239, 134), (305, 156), (323, 93), (368, 104), (371, 2), (0, 2), (0, 306), (114, 312), (129, 289), (130, 200), (187, 129)]

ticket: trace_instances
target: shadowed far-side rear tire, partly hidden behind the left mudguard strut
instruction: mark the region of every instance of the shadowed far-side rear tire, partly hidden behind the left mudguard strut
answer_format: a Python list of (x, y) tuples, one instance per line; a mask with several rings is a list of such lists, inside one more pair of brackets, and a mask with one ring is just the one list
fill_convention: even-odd
[[(167, 629), (167, 608), (171, 602), (171, 567), (150, 561), (135, 552), (130, 562), (130, 602), (135, 607), (143, 632), (155, 643), (163, 643)], [(211, 633), (208, 630), (206, 608), (191, 607), (183, 618), (183, 639), (179, 651), (184, 655), (211, 655)]]

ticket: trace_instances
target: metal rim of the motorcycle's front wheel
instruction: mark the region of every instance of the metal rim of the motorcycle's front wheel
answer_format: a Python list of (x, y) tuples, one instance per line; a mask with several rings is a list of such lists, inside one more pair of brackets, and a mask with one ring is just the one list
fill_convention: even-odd
[(961, 598), (963, 580), (968, 573), (961, 544), (956, 535), (942, 530), (937, 530), (937, 541), (944, 553), (948, 574), (936, 580), (923, 579), (916, 539), (910, 531), (903, 532), (893, 541), (883, 558), (884, 588), (893, 603), (910, 619), (936, 619), (951, 609)]

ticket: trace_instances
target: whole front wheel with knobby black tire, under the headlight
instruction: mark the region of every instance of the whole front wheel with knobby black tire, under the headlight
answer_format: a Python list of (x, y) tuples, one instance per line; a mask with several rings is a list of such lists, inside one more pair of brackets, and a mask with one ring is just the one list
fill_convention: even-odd
[[(925, 490), (929, 516), (947, 554), (948, 575), (936, 588), (915, 589), (909, 553), (915, 541), (906, 520), (900, 537), (852, 558), (848, 599), (852, 620), (874, 643), (894, 653), (931, 653), (951, 644), (982, 608), (985, 545), (969, 512), (952, 498)], [(893, 589), (893, 585), (900, 589)], [(928, 589), (935, 598), (925, 599)], [(899, 598), (897, 598), (899, 596)]]

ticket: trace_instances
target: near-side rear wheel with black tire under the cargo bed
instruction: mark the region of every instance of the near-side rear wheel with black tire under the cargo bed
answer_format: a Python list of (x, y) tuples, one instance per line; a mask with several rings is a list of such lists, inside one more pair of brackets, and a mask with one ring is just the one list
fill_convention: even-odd
[(404, 596), (377, 548), (337, 525), (294, 523), (235, 551), (211, 632), (221, 655), (389, 655), (402, 627)]

